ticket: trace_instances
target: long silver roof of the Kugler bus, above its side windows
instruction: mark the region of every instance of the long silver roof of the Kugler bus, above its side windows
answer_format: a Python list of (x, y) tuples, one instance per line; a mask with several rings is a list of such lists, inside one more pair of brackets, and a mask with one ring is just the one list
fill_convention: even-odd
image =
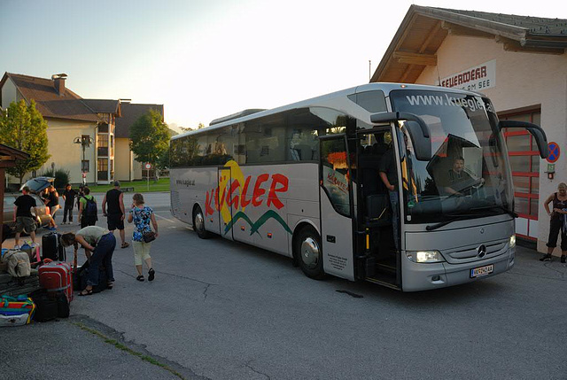
[[(288, 110), (293, 110), (293, 109), (297, 109), (297, 108), (302, 108), (302, 107), (306, 107), (306, 106), (314, 106), (314, 105), (322, 105), (332, 99), (338, 98), (338, 97), (347, 97), (348, 95), (353, 95), (353, 94), (357, 94), (357, 93), (361, 93), (361, 92), (367, 92), (367, 91), (375, 91), (375, 90), (382, 90), (384, 91), (384, 95), (386, 97), (389, 96), (390, 91), (394, 90), (394, 89), (425, 89), (425, 90), (442, 90), (445, 92), (455, 92), (455, 93), (467, 93), (470, 95), (474, 95), (474, 96), (483, 96), (483, 94), (480, 94), (478, 92), (472, 92), (472, 91), (468, 91), (465, 89), (451, 89), (451, 88), (447, 88), (447, 87), (439, 87), (439, 86), (430, 86), (430, 85), (425, 85), (425, 84), (406, 84), (406, 83), (389, 83), (389, 82), (379, 82), (379, 83), (367, 83), (367, 84), (362, 84), (361, 86), (356, 86), (356, 87), (352, 87), (350, 89), (342, 89), (340, 91), (336, 91), (336, 92), (331, 92), (330, 94), (326, 94), (326, 95), (322, 95), (320, 97), (312, 97), (306, 100), (302, 100), (299, 101), (297, 103), (291, 103), (290, 105), (283, 105), (277, 108), (272, 108), (270, 110), (259, 110), (259, 109), (253, 109), (253, 112), (248, 112), (248, 111), (252, 111), (252, 110), (245, 110), (242, 112), (237, 112), (237, 113), (233, 113), (229, 116), (224, 116), (218, 119), (213, 120), (208, 127), (206, 128), (201, 128), (201, 129), (196, 129), (196, 130), (190, 130), (188, 132), (185, 132), (181, 135), (176, 135), (171, 137), (171, 140), (176, 140), (178, 138), (184, 137), (184, 136), (191, 136), (191, 135), (198, 135), (201, 133), (207, 133), (210, 132), (214, 129), (219, 129), (219, 128), (223, 128), (223, 127), (227, 127), (230, 125), (234, 125), (237, 123), (241, 123), (241, 122), (245, 122), (248, 120), (253, 120), (253, 119), (260, 119), (262, 117), (265, 116), (269, 116), (271, 114), (274, 113), (278, 113), (278, 112), (283, 112), (283, 111), (288, 111)], [(240, 116), (242, 114), (242, 116)]]

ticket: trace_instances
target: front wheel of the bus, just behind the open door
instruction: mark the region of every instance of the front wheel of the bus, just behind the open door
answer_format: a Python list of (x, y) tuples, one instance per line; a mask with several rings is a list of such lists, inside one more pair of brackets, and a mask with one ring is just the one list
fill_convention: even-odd
[(295, 250), (303, 273), (309, 278), (322, 280), (325, 272), (322, 269), (321, 238), (313, 227), (307, 226), (299, 231)]

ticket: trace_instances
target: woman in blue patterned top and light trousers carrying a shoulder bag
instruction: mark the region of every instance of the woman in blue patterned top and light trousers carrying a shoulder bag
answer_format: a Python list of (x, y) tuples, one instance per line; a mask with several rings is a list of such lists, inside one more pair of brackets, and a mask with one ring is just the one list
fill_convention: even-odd
[(134, 221), (136, 229), (134, 229), (134, 234), (132, 236), (132, 247), (134, 248), (134, 263), (136, 264), (136, 270), (138, 271), (138, 276), (136, 280), (144, 281), (144, 275), (142, 275), (143, 263), (148, 268), (148, 280), (153, 281), (156, 272), (151, 268), (151, 257), (150, 257), (150, 243), (144, 242), (144, 232), (151, 232), (150, 222), (153, 226), (153, 231), (155, 232), (155, 237), (158, 237), (158, 222), (153, 214), (153, 210), (150, 207), (144, 205), (144, 196), (142, 194), (136, 193), (132, 198), (134, 203), (132, 204), (132, 209), (128, 213), (128, 223)]

